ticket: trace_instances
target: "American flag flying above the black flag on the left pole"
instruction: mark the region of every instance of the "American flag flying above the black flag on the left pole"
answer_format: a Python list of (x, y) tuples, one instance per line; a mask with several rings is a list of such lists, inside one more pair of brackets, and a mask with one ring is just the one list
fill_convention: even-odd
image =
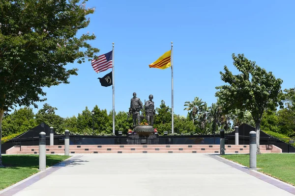
[(91, 61), (91, 66), (96, 73), (106, 71), (113, 67), (113, 51), (98, 56), (98, 59)]

